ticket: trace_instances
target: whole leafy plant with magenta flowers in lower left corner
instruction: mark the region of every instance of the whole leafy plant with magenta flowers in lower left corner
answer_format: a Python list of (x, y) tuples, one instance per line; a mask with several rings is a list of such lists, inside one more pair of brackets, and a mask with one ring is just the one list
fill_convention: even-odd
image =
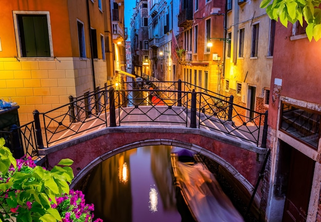
[(92, 221), (93, 205), (85, 204), (80, 191), (69, 190), (72, 160), (47, 171), (31, 157), (15, 160), (4, 144), (0, 138), (0, 221)]

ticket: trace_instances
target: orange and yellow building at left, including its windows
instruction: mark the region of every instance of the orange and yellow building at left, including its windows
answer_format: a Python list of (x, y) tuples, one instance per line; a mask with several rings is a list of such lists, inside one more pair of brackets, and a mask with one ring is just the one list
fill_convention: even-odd
[(102, 88), (114, 75), (110, 2), (1, 1), (0, 97), (21, 124)]

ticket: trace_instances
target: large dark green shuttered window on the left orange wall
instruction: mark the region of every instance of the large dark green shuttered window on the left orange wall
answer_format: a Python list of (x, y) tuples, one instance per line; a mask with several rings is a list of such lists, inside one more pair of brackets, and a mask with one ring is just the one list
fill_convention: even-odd
[(17, 14), (21, 57), (50, 57), (46, 14)]

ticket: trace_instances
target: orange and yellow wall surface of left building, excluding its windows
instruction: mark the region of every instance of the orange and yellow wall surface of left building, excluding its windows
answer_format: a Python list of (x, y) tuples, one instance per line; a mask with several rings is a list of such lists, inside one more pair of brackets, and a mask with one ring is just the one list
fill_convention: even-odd
[[(106, 5), (104, 3), (104, 5)], [(2, 1), (0, 21), (0, 95), (19, 107), (21, 124), (33, 120), (32, 112), (46, 112), (69, 102), (68, 97), (93, 91), (86, 1)], [(46, 13), (50, 39), (50, 57), (22, 57), (17, 34), (16, 15)], [(107, 81), (101, 34), (104, 14), (97, 2), (89, 1), (91, 27), (97, 33), (98, 59), (94, 59), (96, 86)], [(106, 15), (107, 16), (107, 15)], [(79, 58), (77, 20), (84, 23), (86, 57)]]

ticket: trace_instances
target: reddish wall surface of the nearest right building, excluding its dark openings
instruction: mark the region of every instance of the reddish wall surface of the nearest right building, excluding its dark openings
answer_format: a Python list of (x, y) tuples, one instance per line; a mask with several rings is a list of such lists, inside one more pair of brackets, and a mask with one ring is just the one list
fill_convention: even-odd
[[(307, 221), (321, 221), (319, 217), (320, 142), (313, 149), (299, 139), (279, 130), (282, 101), (308, 109), (315, 114), (321, 114), (321, 100), (319, 99), (321, 77), (318, 75), (321, 70), (318, 63), (315, 62), (321, 54), (321, 42), (315, 42), (314, 40), (309, 42), (306, 34), (294, 35), (292, 30), (295, 30), (295, 28), (292, 28), (292, 24), (288, 24), (288, 28), (283, 27), (279, 23), (276, 24), (268, 118), (268, 147), (272, 151), (272, 156), (271, 173), (268, 178), (270, 180), (270, 192), (268, 196), (267, 217), (269, 221), (274, 221), (278, 218), (277, 216), (282, 217), (283, 215), (284, 196), (282, 198), (276, 195), (278, 193), (275, 190), (277, 186), (274, 187), (273, 184), (277, 183), (280, 171), (282, 171), (280, 162), (283, 159), (280, 153), (283, 150), (283, 146), (280, 144), (286, 143), (299, 151), (301, 155), (315, 161)], [(289, 174), (291, 173), (295, 174), (296, 172), (289, 172)], [(295, 184), (288, 184), (289, 188), (291, 186), (295, 186)]]

